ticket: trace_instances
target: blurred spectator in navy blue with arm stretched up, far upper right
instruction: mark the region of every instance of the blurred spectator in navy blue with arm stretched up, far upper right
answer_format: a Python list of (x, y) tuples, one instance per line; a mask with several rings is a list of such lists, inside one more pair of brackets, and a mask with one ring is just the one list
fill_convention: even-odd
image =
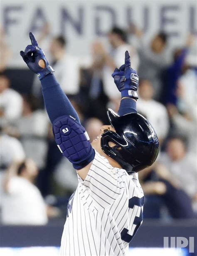
[(173, 63), (164, 71), (163, 78), (163, 93), (162, 102), (177, 105), (177, 82), (181, 76), (188, 50), (193, 43), (193, 36), (190, 35), (187, 39), (186, 45), (182, 49), (176, 49), (173, 54)]

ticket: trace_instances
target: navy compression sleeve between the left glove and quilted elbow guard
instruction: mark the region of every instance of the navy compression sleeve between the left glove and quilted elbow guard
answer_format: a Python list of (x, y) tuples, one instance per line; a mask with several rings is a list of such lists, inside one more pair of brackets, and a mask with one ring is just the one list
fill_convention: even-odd
[(42, 95), (51, 123), (62, 115), (71, 115), (80, 123), (79, 116), (53, 74), (42, 80)]

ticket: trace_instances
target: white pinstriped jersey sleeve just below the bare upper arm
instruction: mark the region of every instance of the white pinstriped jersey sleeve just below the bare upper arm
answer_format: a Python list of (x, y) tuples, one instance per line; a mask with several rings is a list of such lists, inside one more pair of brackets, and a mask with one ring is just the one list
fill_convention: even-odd
[(123, 188), (115, 168), (97, 152), (82, 184), (89, 192), (97, 210), (110, 206), (121, 195), (121, 188)]

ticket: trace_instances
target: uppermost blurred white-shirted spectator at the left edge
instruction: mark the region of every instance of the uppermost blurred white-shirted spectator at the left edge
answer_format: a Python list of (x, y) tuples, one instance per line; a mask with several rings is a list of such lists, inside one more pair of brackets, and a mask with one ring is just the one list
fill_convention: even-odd
[(22, 113), (22, 97), (15, 90), (9, 88), (10, 81), (0, 74), (0, 117), (14, 122)]

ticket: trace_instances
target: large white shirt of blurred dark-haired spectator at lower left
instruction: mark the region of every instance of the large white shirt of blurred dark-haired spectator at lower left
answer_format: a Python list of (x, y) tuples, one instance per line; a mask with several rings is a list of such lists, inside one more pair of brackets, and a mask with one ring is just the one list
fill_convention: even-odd
[(39, 189), (25, 178), (12, 177), (2, 199), (2, 223), (45, 225), (47, 221), (46, 204)]

